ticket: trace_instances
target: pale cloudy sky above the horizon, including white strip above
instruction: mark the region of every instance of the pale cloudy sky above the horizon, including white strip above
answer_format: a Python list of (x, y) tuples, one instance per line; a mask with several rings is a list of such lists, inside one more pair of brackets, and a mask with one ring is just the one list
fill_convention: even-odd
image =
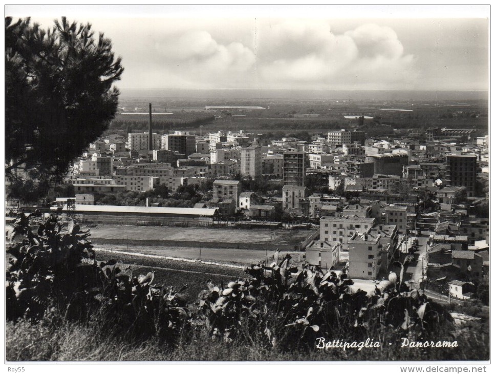
[(122, 92), (489, 88), (487, 7), (7, 6), (6, 14), (45, 28), (61, 15), (91, 23), (122, 57)]

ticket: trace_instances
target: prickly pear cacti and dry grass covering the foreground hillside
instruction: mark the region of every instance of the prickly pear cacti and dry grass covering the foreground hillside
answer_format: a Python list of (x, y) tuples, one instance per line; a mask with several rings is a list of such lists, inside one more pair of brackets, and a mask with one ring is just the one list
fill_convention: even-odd
[[(72, 220), (63, 225), (50, 218), (33, 232), (30, 218), (21, 214), (15, 222), (11, 239), (26, 239), (8, 250), (9, 360), (488, 358), (486, 333), (475, 324), (456, 329), (442, 306), (402, 282), (403, 271), (370, 295), (352, 292), (345, 273), (291, 267), (287, 255), (246, 268), (246, 279), (209, 281), (198, 301), (187, 304), (186, 287), (155, 285), (153, 273), (136, 276), (115, 260), (96, 261), (89, 232)], [(470, 329), (480, 335), (469, 348), (397, 349), (401, 338), (467, 342)], [(325, 351), (316, 348), (319, 338), (370, 338), (381, 347)], [(137, 355), (144, 347), (146, 354)], [(220, 358), (209, 352), (213, 347), (228, 355)]]

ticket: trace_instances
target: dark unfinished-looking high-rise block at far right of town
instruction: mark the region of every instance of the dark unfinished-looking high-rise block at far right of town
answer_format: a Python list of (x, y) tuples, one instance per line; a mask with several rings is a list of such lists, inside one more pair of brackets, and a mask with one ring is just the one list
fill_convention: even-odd
[(467, 196), (475, 194), (478, 157), (475, 154), (451, 153), (445, 156), (446, 184), (465, 186)]

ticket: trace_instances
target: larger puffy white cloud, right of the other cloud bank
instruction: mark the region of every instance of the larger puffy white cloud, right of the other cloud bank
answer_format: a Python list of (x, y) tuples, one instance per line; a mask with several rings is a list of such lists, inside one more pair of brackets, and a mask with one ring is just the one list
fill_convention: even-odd
[[(262, 77), (273, 87), (304, 83), (307, 87), (399, 88), (417, 74), (414, 57), (404, 55), (390, 27), (366, 24), (334, 34), (325, 23), (285, 22), (275, 25), (270, 36), (261, 44), (260, 59)], [(276, 55), (283, 58), (270, 60)]]

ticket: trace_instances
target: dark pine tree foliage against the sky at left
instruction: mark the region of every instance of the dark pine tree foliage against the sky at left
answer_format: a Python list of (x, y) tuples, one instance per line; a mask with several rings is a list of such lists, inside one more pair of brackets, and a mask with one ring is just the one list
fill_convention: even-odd
[(60, 181), (114, 118), (121, 58), (109, 38), (93, 35), (65, 17), (49, 30), (5, 18), (5, 173), (17, 197), (26, 179), (40, 194)]

